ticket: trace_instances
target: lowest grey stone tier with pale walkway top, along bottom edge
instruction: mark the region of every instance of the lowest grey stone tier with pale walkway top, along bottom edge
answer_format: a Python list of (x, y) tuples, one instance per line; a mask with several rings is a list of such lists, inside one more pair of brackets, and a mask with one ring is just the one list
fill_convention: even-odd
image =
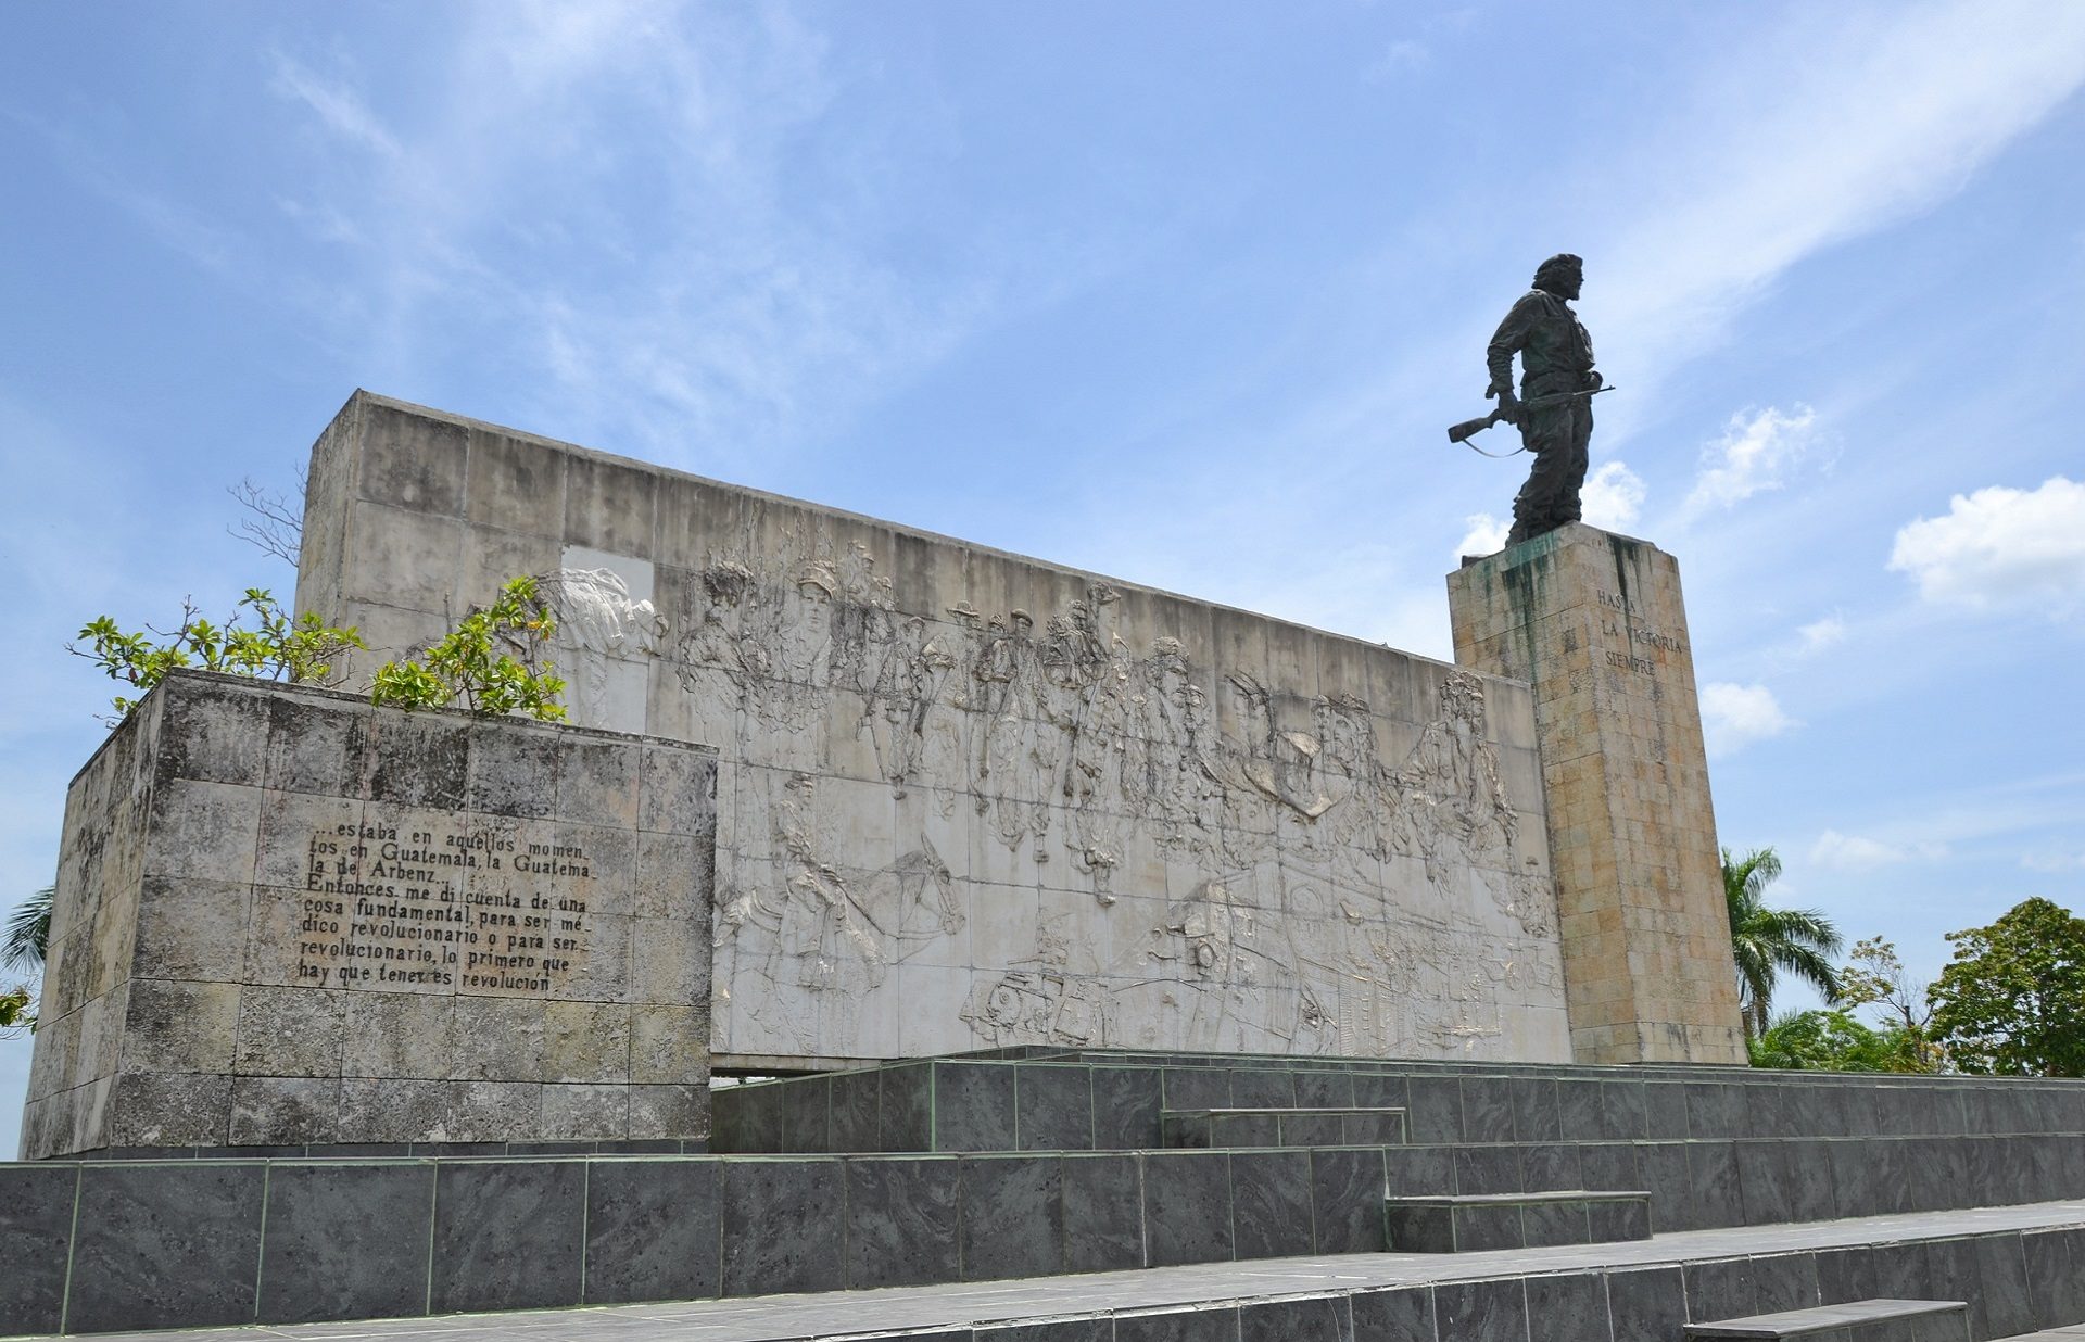
[[(2085, 1202), (1664, 1234), (1635, 1244), (1347, 1254), (988, 1286), (790, 1294), (384, 1323), (244, 1338), (626, 1342), (1681, 1342), (1689, 1321), (1879, 1296), (1968, 1304), (1977, 1342), (2085, 1332)], [(121, 1334), (111, 1342), (156, 1334)]]

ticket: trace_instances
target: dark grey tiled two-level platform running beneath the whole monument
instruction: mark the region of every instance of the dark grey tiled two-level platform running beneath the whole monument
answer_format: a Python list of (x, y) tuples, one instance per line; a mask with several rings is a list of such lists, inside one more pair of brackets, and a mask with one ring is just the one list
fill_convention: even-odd
[[(1168, 1111), (1247, 1109), (1305, 1127), (1278, 1123), (1282, 1146), (1161, 1144)], [(1322, 1111), (1343, 1123), (1403, 1111), (1432, 1140), (1318, 1146), (1309, 1121)], [(0, 1165), (0, 1332), (1249, 1271), (1299, 1257), (1345, 1279), (1349, 1259), (1412, 1244), (1391, 1215), (1414, 1198), (1516, 1209), (1518, 1236), (1491, 1236), (1501, 1217), (1476, 1211), (1482, 1234), (1430, 1242), (1432, 1257), (1489, 1261), (1518, 1244), (1507, 1252), (1532, 1254), (1526, 1265), (1493, 1267), (1541, 1275), (1555, 1271), (1543, 1254), (1562, 1252), (1547, 1246), (1608, 1240), (1568, 1261), (1608, 1273), (1641, 1261), (1630, 1254), (1651, 1232), (1749, 1227), (1743, 1252), (1760, 1252), (1845, 1225), (1887, 1232), (1902, 1213), (1966, 1217), (1916, 1223), (1964, 1236), (2008, 1204), (2085, 1198), (2075, 1082), (1020, 1050), (728, 1086), (715, 1113), (717, 1154), (183, 1148)], [(1070, 1140), (1080, 1134), (1086, 1144)], [(1568, 1234), (1545, 1194), (1572, 1202)], [(1595, 1234), (1593, 1202), (1626, 1215)], [(1914, 1259), (1897, 1286), (1841, 1298), (1968, 1298), (1949, 1286), (1956, 1267)], [(2085, 1238), (2060, 1263), (2085, 1282)], [(2004, 1334), (1977, 1334), (1991, 1336)]]

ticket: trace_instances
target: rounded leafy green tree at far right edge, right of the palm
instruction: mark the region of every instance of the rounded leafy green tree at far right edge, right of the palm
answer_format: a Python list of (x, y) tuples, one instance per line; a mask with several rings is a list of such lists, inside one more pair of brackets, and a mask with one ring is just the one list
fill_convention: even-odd
[(1933, 1038), (1974, 1075), (2085, 1075), (2085, 919), (2050, 900), (1949, 931)]

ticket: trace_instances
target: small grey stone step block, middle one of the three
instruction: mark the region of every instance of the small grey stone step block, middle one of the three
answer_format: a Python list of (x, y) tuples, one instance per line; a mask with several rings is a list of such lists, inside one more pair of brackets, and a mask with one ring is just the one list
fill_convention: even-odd
[(1407, 1254), (1614, 1244), (1651, 1238), (1651, 1194), (1566, 1188), (1395, 1196), (1384, 1198), (1382, 1219), (1391, 1252)]

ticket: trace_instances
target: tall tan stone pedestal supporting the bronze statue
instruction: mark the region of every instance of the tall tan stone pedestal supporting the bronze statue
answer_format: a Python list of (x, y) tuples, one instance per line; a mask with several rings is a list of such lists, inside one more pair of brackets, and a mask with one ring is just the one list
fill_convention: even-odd
[(1678, 563), (1570, 525), (1447, 579), (1455, 661), (1535, 688), (1580, 1063), (1745, 1063)]

